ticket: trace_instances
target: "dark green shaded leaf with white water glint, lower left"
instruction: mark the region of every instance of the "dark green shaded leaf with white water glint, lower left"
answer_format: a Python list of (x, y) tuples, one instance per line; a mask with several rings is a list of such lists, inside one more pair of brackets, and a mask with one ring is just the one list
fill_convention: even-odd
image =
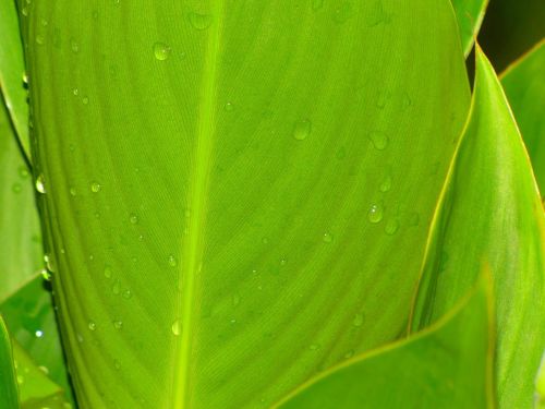
[[(32, 360), (40, 366), (65, 392), (66, 399), (72, 400), (51, 293), (46, 289), (41, 275), (34, 277), (4, 300), (0, 304), (0, 313), (11, 336), (23, 350), (23, 359)], [(17, 348), (15, 351), (17, 352)], [(28, 359), (24, 358), (25, 354), (28, 354)], [(26, 388), (26, 399), (33, 396), (33, 389), (34, 387)]]

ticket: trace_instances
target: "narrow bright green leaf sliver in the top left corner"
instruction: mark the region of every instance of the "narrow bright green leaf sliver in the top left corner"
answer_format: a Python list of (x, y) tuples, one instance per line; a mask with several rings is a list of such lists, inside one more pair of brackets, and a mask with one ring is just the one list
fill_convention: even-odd
[[(28, 13), (32, 7), (32, 3), (25, 3), (22, 7), (23, 15)], [(24, 154), (27, 159), (31, 159), (28, 104), (24, 84), (28, 80), (25, 76), (17, 9), (13, 0), (0, 1), (0, 38), (2, 39), (0, 43), (0, 89)]]

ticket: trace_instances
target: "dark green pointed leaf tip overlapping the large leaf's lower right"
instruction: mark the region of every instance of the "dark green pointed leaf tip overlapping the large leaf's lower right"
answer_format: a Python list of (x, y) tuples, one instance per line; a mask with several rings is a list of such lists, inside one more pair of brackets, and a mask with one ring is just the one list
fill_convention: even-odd
[(481, 281), (433, 327), (347, 361), (279, 407), (494, 408), (492, 288)]

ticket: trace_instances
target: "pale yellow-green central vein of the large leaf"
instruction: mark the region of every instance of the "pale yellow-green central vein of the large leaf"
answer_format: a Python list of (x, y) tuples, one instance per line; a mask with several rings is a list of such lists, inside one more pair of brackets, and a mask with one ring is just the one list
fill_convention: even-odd
[(193, 161), (192, 188), (190, 190), (191, 218), (187, 239), (182, 242), (182, 262), (180, 263), (179, 282), (182, 282), (181, 300), (178, 304), (182, 332), (177, 345), (173, 392), (175, 409), (190, 406), (191, 351), (195, 325), (194, 301), (203, 255), (203, 226), (206, 218), (206, 201), (209, 172), (211, 169), (213, 137), (216, 123), (216, 95), (218, 55), (221, 34), (223, 1), (214, 1), (213, 24), (208, 32), (208, 41), (203, 65), (198, 121), (196, 124), (195, 158)]

